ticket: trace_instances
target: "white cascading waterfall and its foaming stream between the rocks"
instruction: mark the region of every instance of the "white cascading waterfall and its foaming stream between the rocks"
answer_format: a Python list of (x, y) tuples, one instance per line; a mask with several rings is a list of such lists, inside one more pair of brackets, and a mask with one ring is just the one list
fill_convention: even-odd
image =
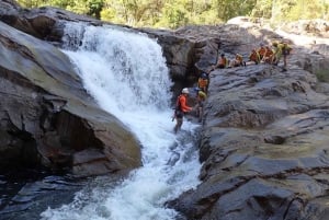
[[(75, 201), (48, 208), (42, 219), (174, 219), (177, 212), (164, 202), (198, 184), (198, 152), (193, 142), (197, 125), (184, 121), (184, 135), (173, 134), (172, 82), (161, 47), (144, 34), (110, 26), (70, 24), (66, 36), (64, 51), (86, 90), (139, 139), (143, 166), (115, 187), (94, 184), (79, 192)], [(69, 49), (72, 46), (75, 50)]]

